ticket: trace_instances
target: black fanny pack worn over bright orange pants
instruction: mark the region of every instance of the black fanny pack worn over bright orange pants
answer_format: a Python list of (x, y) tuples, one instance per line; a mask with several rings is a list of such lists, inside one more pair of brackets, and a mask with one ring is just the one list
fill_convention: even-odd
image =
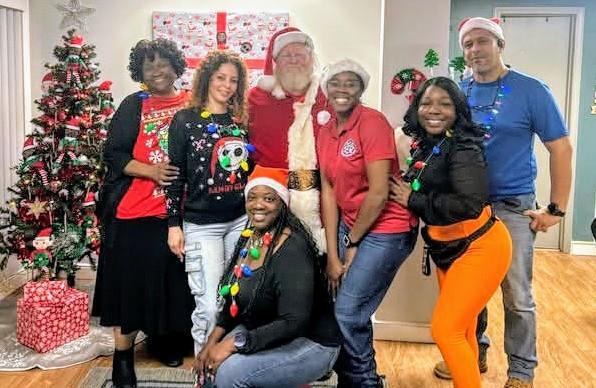
[(491, 209), (491, 216), (484, 225), (468, 237), (451, 241), (433, 240), (428, 234), (428, 227), (425, 226), (422, 228), (421, 234), (425, 242), (424, 253), (422, 255), (422, 273), (426, 276), (430, 275), (429, 256), (433, 259), (437, 268), (440, 268), (443, 271), (448, 270), (449, 267), (451, 267), (451, 264), (468, 250), (470, 244), (488, 232), (496, 221), (497, 217), (495, 216), (495, 212)]

